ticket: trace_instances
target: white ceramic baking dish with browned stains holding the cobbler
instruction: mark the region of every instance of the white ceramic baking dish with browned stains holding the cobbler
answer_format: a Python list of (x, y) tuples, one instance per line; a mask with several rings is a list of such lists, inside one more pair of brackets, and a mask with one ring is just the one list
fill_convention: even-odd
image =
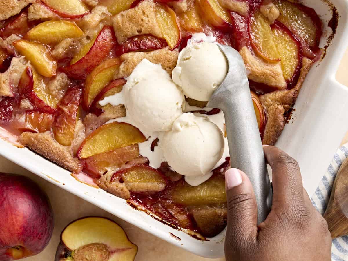
[[(331, 9), (322, 1), (305, 0), (303, 3), (315, 8), (327, 25), (331, 19), (331, 11), (329, 11)], [(296, 111), (277, 143), (280, 148), (299, 161), (303, 185), (309, 195), (314, 193), (332, 155), (348, 129), (348, 88), (335, 80), (338, 65), (348, 47), (348, 1), (332, 0), (331, 2), (340, 14), (337, 33), (327, 49), (324, 60), (311, 69), (304, 81), (295, 104)], [(324, 28), (324, 35), (330, 35), (330, 32), (331, 29)], [(322, 43), (324, 46), (326, 40), (323, 39)], [(0, 139), (0, 155), (185, 250), (207, 258), (218, 258), (224, 254), (225, 232), (209, 241), (200, 241), (153, 219), (142, 211), (133, 209), (123, 199), (76, 181), (70, 172), (26, 148), (17, 148)]]

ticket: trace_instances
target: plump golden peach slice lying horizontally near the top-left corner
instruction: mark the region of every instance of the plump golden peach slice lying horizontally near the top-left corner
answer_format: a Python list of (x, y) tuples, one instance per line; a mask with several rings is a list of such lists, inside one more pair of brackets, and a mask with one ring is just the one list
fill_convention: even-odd
[(25, 39), (38, 41), (42, 44), (57, 44), (65, 38), (77, 38), (84, 32), (74, 22), (47, 21), (38, 24), (25, 35)]

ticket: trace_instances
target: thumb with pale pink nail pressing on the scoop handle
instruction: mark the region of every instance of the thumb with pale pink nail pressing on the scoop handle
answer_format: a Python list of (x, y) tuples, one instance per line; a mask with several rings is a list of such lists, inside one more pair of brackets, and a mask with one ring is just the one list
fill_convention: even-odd
[[(243, 252), (257, 236), (257, 205), (253, 186), (247, 175), (236, 168), (225, 173), (227, 192), (227, 235), (225, 251)], [(246, 249), (247, 250), (247, 249)]]

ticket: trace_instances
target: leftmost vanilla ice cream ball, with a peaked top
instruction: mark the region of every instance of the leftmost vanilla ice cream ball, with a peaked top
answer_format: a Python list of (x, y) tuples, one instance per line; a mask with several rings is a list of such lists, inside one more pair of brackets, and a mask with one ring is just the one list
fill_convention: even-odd
[(142, 60), (124, 86), (127, 117), (151, 133), (171, 129), (182, 114), (185, 97), (160, 64)]

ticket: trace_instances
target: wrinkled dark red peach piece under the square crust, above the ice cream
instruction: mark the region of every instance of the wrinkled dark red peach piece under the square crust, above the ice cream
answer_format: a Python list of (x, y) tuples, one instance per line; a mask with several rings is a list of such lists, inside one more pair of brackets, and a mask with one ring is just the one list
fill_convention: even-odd
[(153, 35), (136, 35), (129, 38), (122, 45), (115, 48), (115, 55), (120, 56), (129, 52), (153, 51), (166, 47), (168, 44), (163, 39), (158, 39)]

